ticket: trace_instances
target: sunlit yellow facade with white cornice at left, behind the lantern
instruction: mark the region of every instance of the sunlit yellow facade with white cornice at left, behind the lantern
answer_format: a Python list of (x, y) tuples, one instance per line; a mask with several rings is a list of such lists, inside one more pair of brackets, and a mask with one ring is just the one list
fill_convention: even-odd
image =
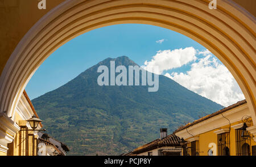
[[(26, 92), (23, 92), (11, 117), (7, 117), (6, 113), (0, 114), (0, 135), (5, 135), (5, 138), (0, 138), (0, 156), (37, 155), (38, 136), (26, 121), (34, 114), (36, 114), (35, 109)], [(42, 128), (41, 123), (38, 125), (38, 129), (40, 128)]]

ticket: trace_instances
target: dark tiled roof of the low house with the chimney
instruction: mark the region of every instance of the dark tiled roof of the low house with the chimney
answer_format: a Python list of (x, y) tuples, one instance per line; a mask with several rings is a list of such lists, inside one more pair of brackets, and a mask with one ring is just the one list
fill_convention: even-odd
[(138, 147), (134, 149), (132, 153), (138, 154), (146, 151), (150, 151), (155, 148), (164, 147), (164, 146), (180, 146), (179, 143), (180, 138), (174, 134), (168, 135), (164, 139), (156, 139), (150, 143), (147, 143), (145, 145), (142, 145), (141, 147)]

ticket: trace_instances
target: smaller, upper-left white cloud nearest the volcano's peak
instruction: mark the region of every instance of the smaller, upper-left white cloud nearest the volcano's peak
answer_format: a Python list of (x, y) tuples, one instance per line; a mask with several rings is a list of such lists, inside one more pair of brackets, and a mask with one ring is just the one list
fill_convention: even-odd
[(162, 74), (164, 70), (181, 67), (196, 59), (196, 49), (193, 47), (175, 50), (159, 50), (156, 55), (152, 57), (151, 61), (145, 61), (142, 67), (145, 69), (158, 67), (159, 72), (154, 71), (154, 73)]

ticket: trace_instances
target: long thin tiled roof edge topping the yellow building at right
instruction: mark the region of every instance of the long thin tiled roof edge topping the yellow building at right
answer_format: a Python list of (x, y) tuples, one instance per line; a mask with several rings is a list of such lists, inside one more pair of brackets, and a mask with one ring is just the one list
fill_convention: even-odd
[(224, 108), (224, 109), (218, 110), (218, 111), (215, 112), (215, 113), (206, 115), (205, 117), (200, 118), (200, 119), (197, 119), (196, 121), (194, 121), (194, 122), (192, 122), (192, 123), (188, 123), (187, 125), (182, 126), (182, 127), (180, 127), (179, 129), (175, 130), (175, 131), (174, 131), (174, 134), (175, 134), (176, 132), (178, 132), (178, 131), (181, 131), (181, 130), (184, 130), (184, 129), (190, 127), (190, 126), (193, 126), (193, 125), (195, 125), (196, 123), (205, 121), (206, 119), (212, 118), (212, 117), (214, 117), (214, 116), (216, 116), (216, 115), (218, 115), (218, 114), (224, 113), (224, 112), (226, 112), (226, 111), (228, 111), (228, 110), (230, 110), (230, 109), (236, 108), (236, 107), (238, 107), (238, 106), (240, 106), (240, 105), (243, 105), (243, 104), (246, 104), (246, 100), (238, 101), (237, 103), (232, 104), (232, 105), (230, 105), (230, 106), (228, 106), (228, 107), (226, 107), (226, 108)]

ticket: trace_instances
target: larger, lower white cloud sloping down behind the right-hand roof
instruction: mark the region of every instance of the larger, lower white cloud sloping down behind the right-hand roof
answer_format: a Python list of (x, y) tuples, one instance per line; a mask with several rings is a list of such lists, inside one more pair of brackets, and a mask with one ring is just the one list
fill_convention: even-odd
[(185, 73), (166, 73), (165, 76), (223, 106), (245, 99), (228, 68), (218, 63), (217, 59), (208, 52), (199, 52), (199, 54), (206, 56), (193, 63), (191, 70)]

